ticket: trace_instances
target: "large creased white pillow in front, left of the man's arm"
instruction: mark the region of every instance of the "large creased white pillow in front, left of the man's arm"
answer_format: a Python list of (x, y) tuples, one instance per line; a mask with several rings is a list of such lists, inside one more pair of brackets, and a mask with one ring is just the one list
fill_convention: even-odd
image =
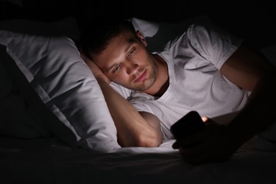
[[(33, 90), (65, 125), (47, 122), (45, 126), (57, 137), (67, 144), (98, 151), (120, 148), (100, 86), (70, 38), (0, 30), (0, 44), (6, 45)], [(64, 139), (68, 131), (74, 139)]]

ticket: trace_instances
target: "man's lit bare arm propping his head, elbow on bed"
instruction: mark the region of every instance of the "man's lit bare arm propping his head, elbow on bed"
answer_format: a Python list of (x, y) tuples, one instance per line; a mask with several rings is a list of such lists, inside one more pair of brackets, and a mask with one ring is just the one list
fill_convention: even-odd
[(117, 128), (117, 141), (121, 146), (159, 146), (162, 133), (159, 119), (146, 112), (137, 112), (133, 105), (120, 96), (109, 84), (110, 80), (90, 59), (81, 55), (96, 77), (108, 109)]

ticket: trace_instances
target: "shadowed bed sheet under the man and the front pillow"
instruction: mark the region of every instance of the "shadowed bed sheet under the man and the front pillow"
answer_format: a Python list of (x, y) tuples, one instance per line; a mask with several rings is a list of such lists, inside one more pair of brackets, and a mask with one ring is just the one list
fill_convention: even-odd
[(54, 138), (0, 137), (0, 183), (276, 183), (275, 151), (241, 148), (227, 161), (192, 166), (171, 144), (100, 153)]

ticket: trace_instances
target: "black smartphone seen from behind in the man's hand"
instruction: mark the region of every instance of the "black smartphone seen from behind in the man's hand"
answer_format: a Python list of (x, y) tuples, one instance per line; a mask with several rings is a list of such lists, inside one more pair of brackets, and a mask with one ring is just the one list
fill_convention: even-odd
[(171, 126), (171, 132), (177, 140), (180, 140), (204, 128), (205, 123), (200, 115), (192, 110)]

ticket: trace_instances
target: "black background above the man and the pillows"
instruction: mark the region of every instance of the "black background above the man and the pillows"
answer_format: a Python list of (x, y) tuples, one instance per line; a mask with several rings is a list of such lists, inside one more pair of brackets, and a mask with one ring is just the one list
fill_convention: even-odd
[(36, 21), (59, 21), (75, 17), (79, 28), (97, 16), (137, 17), (150, 21), (179, 22), (207, 16), (256, 47), (276, 43), (276, 8), (272, 1), (96, 1), (96, 0), (22, 0), (22, 4), (0, 1), (0, 21), (28, 18)]

